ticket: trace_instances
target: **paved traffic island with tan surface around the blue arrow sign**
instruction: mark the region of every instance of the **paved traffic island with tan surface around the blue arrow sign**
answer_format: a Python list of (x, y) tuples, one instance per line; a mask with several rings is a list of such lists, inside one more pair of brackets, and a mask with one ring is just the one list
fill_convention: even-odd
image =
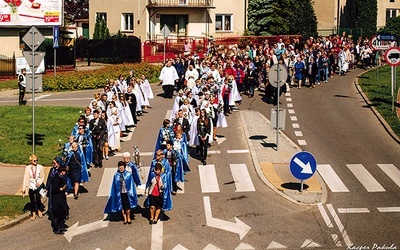
[(300, 192), (300, 181), (290, 172), (290, 160), (301, 149), (280, 132), (277, 151), (276, 130), (270, 128), (270, 121), (265, 116), (252, 110), (239, 111), (239, 115), (254, 167), (261, 180), (276, 193), (294, 203), (324, 203), (327, 193), (318, 173), (304, 181), (303, 192)]

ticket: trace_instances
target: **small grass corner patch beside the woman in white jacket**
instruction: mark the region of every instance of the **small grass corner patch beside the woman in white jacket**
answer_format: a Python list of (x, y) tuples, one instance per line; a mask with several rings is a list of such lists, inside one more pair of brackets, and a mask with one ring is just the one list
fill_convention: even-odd
[(28, 196), (0, 195), (0, 216), (14, 219), (24, 213), (25, 205), (28, 202)]

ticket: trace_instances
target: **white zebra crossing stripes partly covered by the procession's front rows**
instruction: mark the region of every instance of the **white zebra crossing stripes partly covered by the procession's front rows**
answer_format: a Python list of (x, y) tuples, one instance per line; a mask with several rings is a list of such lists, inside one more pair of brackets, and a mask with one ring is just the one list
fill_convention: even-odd
[[(229, 164), (233, 183), (235, 184), (235, 192), (254, 192), (253, 181), (251, 180), (249, 170), (246, 164)], [(108, 196), (110, 193), (110, 187), (112, 179), (115, 173), (115, 168), (105, 168), (103, 176), (97, 191), (97, 196)], [(136, 191), (137, 194), (144, 194), (145, 184), (147, 176), (149, 174), (150, 167), (141, 167), (139, 169), (140, 179), (142, 185), (138, 186)], [(218, 182), (216, 166), (214, 164), (198, 165), (198, 173), (200, 178), (201, 192), (202, 193), (219, 193), (220, 183)], [(179, 190), (177, 194), (185, 193), (185, 183), (178, 182)]]

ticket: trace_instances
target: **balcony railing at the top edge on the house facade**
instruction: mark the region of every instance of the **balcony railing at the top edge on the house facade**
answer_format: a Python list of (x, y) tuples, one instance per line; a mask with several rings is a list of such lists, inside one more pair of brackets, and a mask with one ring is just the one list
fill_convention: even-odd
[(147, 8), (215, 8), (213, 0), (149, 0)]

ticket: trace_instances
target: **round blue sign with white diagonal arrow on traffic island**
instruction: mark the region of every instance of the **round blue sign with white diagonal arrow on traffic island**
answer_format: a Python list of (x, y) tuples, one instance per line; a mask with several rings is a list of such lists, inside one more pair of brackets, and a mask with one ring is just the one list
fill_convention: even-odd
[(302, 151), (292, 157), (289, 166), (292, 175), (303, 181), (314, 175), (317, 170), (317, 161), (311, 153)]

